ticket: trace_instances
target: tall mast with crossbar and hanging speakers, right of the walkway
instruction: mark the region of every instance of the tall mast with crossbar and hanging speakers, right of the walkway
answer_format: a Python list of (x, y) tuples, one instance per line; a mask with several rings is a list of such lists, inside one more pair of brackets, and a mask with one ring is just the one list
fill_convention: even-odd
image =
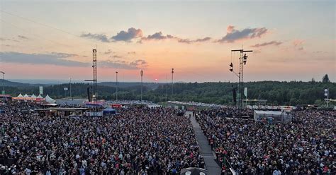
[(238, 110), (240, 111), (239, 116), (242, 117), (242, 91), (244, 87), (242, 86), (243, 84), (243, 77), (244, 77), (244, 65), (246, 65), (247, 62), (247, 55), (245, 54), (246, 52), (253, 52), (252, 50), (244, 50), (244, 49), (235, 49), (231, 50), (231, 52), (240, 52), (240, 57), (239, 57), (239, 73), (235, 73), (233, 71), (233, 63), (230, 64), (230, 71), (235, 73), (235, 75), (238, 77)]

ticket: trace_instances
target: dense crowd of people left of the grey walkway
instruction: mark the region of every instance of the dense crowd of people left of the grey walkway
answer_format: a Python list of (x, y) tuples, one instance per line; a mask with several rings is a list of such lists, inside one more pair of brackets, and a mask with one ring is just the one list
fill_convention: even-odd
[(204, 167), (189, 118), (170, 109), (72, 119), (23, 113), (24, 105), (30, 107), (6, 104), (0, 114), (0, 174), (179, 174)]

